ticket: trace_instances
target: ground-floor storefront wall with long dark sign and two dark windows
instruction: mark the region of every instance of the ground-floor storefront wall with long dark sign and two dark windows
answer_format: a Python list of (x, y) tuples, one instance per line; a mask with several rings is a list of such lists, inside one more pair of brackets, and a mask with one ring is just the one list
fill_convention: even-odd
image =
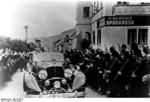
[(150, 46), (150, 16), (105, 16), (97, 29), (102, 48), (133, 42)]

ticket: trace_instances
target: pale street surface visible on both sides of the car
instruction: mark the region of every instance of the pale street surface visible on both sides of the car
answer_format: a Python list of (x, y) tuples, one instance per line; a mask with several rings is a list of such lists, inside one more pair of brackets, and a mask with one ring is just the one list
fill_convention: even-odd
[[(99, 95), (98, 93), (94, 92), (90, 88), (86, 88), (85, 92), (86, 92), (85, 97), (91, 97), (91, 98), (105, 97)], [(0, 96), (4, 98), (13, 98), (13, 97), (22, 98), (24, 96), (23, 72), (16, 72), (12, 76), (12, 80), (6, 83), (6, 87), (0, 91)]]

